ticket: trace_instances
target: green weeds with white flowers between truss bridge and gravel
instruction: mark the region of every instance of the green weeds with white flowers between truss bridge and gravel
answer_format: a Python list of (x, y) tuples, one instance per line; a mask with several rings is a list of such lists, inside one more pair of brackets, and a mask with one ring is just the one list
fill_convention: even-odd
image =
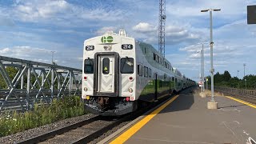
[(34, 105), (25, 113), (4, 113), (0, 116), (0, 137), (43, 126), (62, 119), (86, 114), (84, 103), (78, 96), (54, 99), (48, 106)]

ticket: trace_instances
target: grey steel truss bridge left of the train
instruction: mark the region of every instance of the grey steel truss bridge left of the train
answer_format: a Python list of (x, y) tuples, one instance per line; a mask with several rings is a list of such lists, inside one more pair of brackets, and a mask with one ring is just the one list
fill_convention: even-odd
[[(10, 77), (8, 68), (17, 73)], [(1, 76), (6, 88), (0, 87), (0, 112), (31, 110), (35, 103), (49, 104), (54, 98), (81, 95), (79, 69), (0, 56)]]

